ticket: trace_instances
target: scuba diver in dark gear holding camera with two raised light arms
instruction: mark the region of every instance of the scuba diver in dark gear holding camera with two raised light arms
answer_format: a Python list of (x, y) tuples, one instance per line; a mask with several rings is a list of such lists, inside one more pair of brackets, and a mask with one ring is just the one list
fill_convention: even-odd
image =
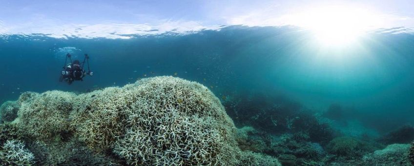
[[(67, 59), (69, 59), (70, 63), (66, 64)], [(83, 65), (85, 64), (85, 61), (88, 64), (88, 72), (83, 70)], [(85, 58), (83, 59), (81, 65), (81, 62), (79, 62), (78, 60), (72, 62), (71, 55), (67, 53), (63, 70), (61, 72), (61, 77), (59, 78), (59, 82), (65, 81), (68, 84), (72, 84), (72, 82), (74, 81), (83, 81), (83, 77), (86, 75), (93, 76), (93, 72), (89, 69), (88, 54), (85, 54)]]

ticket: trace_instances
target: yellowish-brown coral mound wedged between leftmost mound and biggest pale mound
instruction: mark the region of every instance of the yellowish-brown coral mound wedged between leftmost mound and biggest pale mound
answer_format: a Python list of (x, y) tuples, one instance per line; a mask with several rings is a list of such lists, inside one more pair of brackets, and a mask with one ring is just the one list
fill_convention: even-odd
[(110, 148), (117, 137), (124, 135), (125, 111), (133, 102), (129, 93), (108, 87), (79, 95), (70, 115), (75, 135), (91, 148)]

